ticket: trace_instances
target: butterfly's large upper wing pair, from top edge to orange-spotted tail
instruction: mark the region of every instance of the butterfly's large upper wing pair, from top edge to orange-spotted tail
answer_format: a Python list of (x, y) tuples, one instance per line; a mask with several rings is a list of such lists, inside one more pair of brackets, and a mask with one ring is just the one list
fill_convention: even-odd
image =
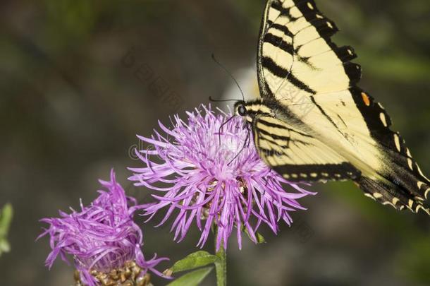
[[(315, 140), (360, 170), (355, 181), (367, 196), (397, 209), (429, 212), (429, 179), (389, 129), (383, 107), (357, 87), (361, 68), (351, 62), (351, 47), (331, 41), (337, 31), (312, 0), (269, 0), (257, 60), (263, 104), (276, 102), (281, 113), (300, 121), (293, 127), (311, 129)], [(295, 164), (279, 165), (282, 174)]]

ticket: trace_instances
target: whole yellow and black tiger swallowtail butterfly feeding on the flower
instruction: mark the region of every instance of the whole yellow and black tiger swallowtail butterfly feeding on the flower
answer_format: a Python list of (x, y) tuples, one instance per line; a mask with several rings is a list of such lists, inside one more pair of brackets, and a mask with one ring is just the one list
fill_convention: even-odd
[(366, 196), (430, 215), (430, 181), (379, 102), (357, 86), (352, 47), (314, 1), (269, 0), (259, 36), (261, 98), (235, 103), (263, 160), (288, 181), (353, 180)]

